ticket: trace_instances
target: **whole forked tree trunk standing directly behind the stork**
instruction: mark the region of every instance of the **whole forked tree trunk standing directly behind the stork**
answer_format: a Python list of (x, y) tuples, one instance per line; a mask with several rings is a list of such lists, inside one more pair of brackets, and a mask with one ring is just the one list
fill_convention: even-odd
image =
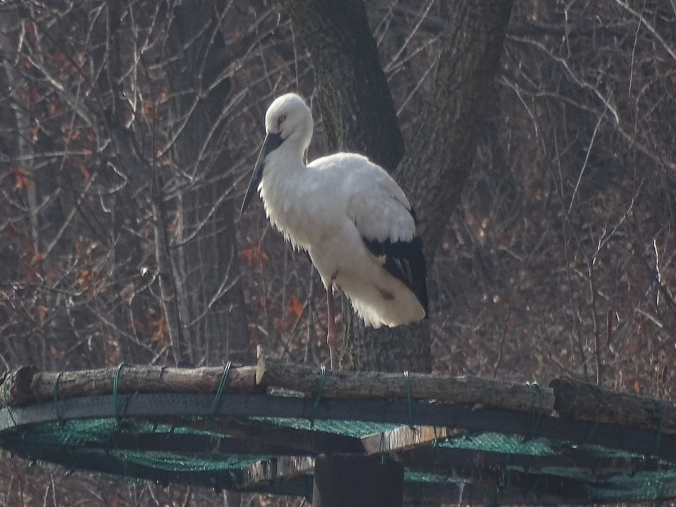
[[(399, 124), (363, 2), (282, 0), (282, 5), (310, 52), (327, 144), (366, 154), (394, 171), (418, 211), (431, 262), (472, 165), (512, 1), (442, 4), (446, 23), (434, 96), (403, 160)], [(349, 304), (343, 315), (342, 368), (432, 370), (429, 321), (373, 330)]]

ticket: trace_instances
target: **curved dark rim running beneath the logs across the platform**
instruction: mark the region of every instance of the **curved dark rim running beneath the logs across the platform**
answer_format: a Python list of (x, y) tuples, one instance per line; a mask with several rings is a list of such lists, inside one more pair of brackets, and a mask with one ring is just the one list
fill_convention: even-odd
[[(211, 412), (211, 394), (134, 394), (118, 399), (120, 415), (151, 418), (175, 425), (189, 425), (195, 415), (205, 417)], [(0, 411), (0, 430), (33, 425), (60, 418), (98, 418), (113, 415), (113, 396), (88, 396), (64, 400), (61, 403), (41, 403)], [(312, 399), (299, 399), (264, 394), (224, 394), (217, 414), (220, 417), (270, 417), (316, 420), (354, 420), (387, 424), (406, 424), (408, 403), (387, 400), (324, 400), (315, 409)], [(553, 441), (602, 445), (676, 461), (676, 437), (650, 430), (565, 420), (533, 413), (472, 410), (453, 404), (414, 403), (415, 423), (425, 426), (465, 428), (473, 432), (520, 434), (529, 438), (546, 437)], [(61, 414), (61, 416), (59, 416)], [(209, 430), (204, 423), (204, 430)], [(212, 427), (213, 430), (213, 427)], [(271, 442), (272, 443), (272, 442)], [(363, 445), (357, 439), (358, 446)]]

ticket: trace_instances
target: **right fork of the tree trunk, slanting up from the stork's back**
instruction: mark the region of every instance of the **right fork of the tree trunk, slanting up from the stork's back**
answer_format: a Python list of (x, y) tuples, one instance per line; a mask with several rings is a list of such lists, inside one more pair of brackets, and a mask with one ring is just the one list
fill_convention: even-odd
[(415, 203), (430, 264), (472, 168), (512, 0), (440, 6), (446, 22), (432, 97), (420, 115), (418, 136), (395, 172)]

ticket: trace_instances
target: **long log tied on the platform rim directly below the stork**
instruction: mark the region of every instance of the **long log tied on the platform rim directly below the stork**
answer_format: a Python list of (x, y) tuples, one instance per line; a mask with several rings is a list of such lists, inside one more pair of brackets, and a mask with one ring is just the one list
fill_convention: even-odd
[[(320, 371), (304, 365), (284, 363), (258, 353), (256, 382), (265, 387), (283, 387), (315, 394)], [(513, 411), (549, 414), (554, 406), (553, 391), (536, 384), (508, 384), (480, 377), (445, 377), (410, 373), (408, 384), (403, 373), (325, 372), (323, 398), (415, 400), (439, 403), (466, 403), (477, 408), (503, 408)]]

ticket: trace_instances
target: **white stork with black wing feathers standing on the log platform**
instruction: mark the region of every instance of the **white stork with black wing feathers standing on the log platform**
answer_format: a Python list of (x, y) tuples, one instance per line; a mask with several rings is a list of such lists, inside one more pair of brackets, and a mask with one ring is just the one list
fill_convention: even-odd
[(333, 287), (366, 325), (423, 320), (427, 287), (423, 245), (411, 204), (383, 168), (365, 156), (337, 153), (305, 164), (313, 121), (300, 96), (273, 101), (265, 142), (242, 202), (258, 189), (270, 222), (294, 249), (309, 253), (326, 287), (331, 366), (338, 335)]

